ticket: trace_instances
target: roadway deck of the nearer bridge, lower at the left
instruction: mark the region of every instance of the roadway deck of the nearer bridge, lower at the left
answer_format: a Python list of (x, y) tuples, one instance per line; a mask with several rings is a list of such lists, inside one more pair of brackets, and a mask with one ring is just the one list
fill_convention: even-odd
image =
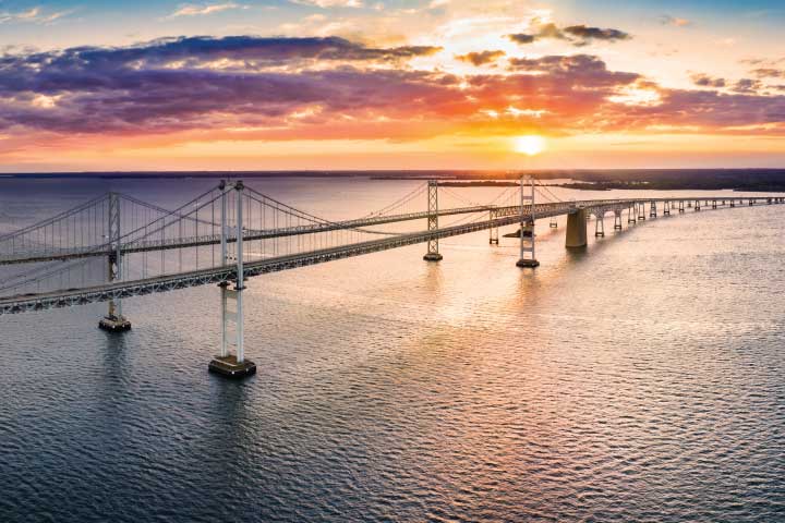
[[(679, 202), (693, 200), (696, 198), (663, 198), (655, 202)], [(725, 199), (730, 200), (748, 200), (749, 198), (699, 198), (701, 202), (708, 199)], [(756, 198), (752, 198), (753, 200)], [(766, 199), (758, 197), (757, 199)], [(583, 200), (575, 203), (558, 204), (540, 204), (535, 205), (535, 219), (550, 218), (576, 211), (577, 209), (602, 209), (614, 210), (621, 206), (627, 208), (633, 203), (650, 203), (652, 199), (624, 199), (624, 200)], [(512, 209), (516, 212), (512, 212)], [(416, 243), (425, 243), (434, 239), (443, 239), (468, 234), (471, 232), (487, 230), (497, 227), (505, 227), (520, 223), (519, 207), (500, 207), (496, 210), (508, 212), (507, 216), (499, 216), (480, 222), (470, 222), (437, 229), (434, 231), (420, 231), (400, 234), (381, 240), (372, 240), (349, 245), (328, 247), (323, 250), (310, 251), (305, 253), (292, 254), (287, 256), (277, 256), (255, 262), (246, 262), (243, 267), (243, 276), (245, 278), (264, 275), (267, 272), (278, 272), (298, 267), (306, 267), (310, 265), (323, 264), (336, 259), (351, 258), (364, 254), (388, 251), (391, 248), (403, 247)], [(486, 209), (483, 209), (486, 210)], [(603, 211), (604, 210), (600, 210)], [(415, 218), (412, 218), (415, 219)], [(341, 222), (346, 223), (346, 222)], [(131, 296), (140, 296), (158, 292), (168, 292), (179, 289), (186, 289), (197, 285), (206, 285), (210, 283), (220, 283), (222, 281), (234, 280), (237, 278), (237, 265), (227, 265), (221, 267), (213, 267), (209, 269), (193, 270), (188, 272), (165, 275), (154, 278), (138, 279), (132, 281), (117, 281), (84, 289), (68, 289), (64, 291), (53, 291), (39, 294), (22, 294), (15, 296), (0, 297), (0, 315), (19, 314), (25, 312), (43, 311), (48, 308), (69, 307), (73, 305), (84, 305), (94, 302), (106, 302), (109, 300), (119, 300)]]

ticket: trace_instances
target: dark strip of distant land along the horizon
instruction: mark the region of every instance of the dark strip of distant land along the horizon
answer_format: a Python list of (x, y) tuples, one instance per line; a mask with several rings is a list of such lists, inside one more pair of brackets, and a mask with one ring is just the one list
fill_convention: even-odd
[(736, 190), (785, 192), (785, 169), (579, 169), (532, 171), (129, 171), (4, 173), (0, 179), (218, 179), (218, 178), (370, 178), (373, 180), (431, 180), (493, 185), (516, 180), (521, 172), (540, 180), (570, 180), (560, 186), (623, 190)]

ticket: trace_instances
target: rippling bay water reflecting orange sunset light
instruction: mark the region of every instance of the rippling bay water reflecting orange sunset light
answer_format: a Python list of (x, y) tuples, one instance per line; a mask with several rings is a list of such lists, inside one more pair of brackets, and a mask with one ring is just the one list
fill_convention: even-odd
[[(9, 228), (212, 182), (0, 183)], [(336, 219), (413, 186), (252, 183)], [(215, 288), (126, 301), (124, 336), (102, 304), (2, 317), (0, 521), (785, 521), (783, 220), (609, 220), (577, 254), (544, 221), (536, 271), (480, 232), (255, 278), (239, 384), (206, 372)]]

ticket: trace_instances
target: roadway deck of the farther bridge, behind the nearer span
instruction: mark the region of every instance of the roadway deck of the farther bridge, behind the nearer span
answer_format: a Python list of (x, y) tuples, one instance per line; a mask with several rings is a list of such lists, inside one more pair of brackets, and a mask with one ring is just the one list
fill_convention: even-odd
[[(605, 211), (613, 210), (614, 208), (626, 208), (633, 204), (651, 204), (656, 203), (673, 203), (673, 202), (695, 202), (695, 200), (725, 200), (725, 202), (742, 202), (749, 200), (750, 197), (725, 197), (725, 196), (702, 196), (702, 197), (689, 197), (689, 198), (630, 198), (630, 199), (584, 199), (577, 202), (559, 202), (548, 204), (536, 204), (534, 215), (538, 218), (547, 218), (556, 215), (568, 214), (576, 207), (582, 207), (592, 211), (605, 209)], [(752, 199), (766, 199), (766, 197), (752, 197)], [(473, 206), (473, 207), (458, 207), (451, 209), (439, 209), (438, 216), (455, 216), (466, 215), (473, 212), (484, 212), (493, 210), (497, 217), (508, 215), (520, 215), (520, 206)], [(558, 212), (553, 212), (558, 210)], [(277, 229), (265, 229), (265, 230), (247, 230), (243, 235), (244, 241), (253, 240), (269, 240), (274, 238), (287, 238), (303, 234), (316, 234), (322, 232), (330, 232), (338, 230), (355, 230), (366, 227), (381, 226), (387, 223), (396, 223), (402, 221), (412, 220), (424, 220), (427, 219), (428, 211), (407, 212), (401, 215), (389, 215), (389, 216), (369, 216), (354, 220), (346, 221), (324, 221), (322, 223), (314, 223), (312, 226), (297, 226), (289, 228), (277, 228)], [(367, 231), (375, 232), (375, 231)], [(391, 233), (386, 233), (391, 234)], [(237, 242), (237, 236), (229, 234), (227, 242)], [(198, 236), (185, 236), (185, 238), (171, 238), (162, 240), (135, 240), (124, 243), (120, 251), (122, 254), (155, 252), (155, 251), (168, 251), (176, 248), (185, 247), (198, 247), (208, 245), (220, 244), (220, 234), (206, 234)], [(68, 260), (75, 258), (97, 257), (97, 256), (109, 256), (114, 251), (108, 244), (87, 246), (87, 247), (72, 247), (72, 248), (53, 248), (45, 251), (20, 251), (16, 253), (0, 254), (0, 265), (12, 265), (12, 264), (28, 264), (38, 262), (55, 262), (55, 260)]]

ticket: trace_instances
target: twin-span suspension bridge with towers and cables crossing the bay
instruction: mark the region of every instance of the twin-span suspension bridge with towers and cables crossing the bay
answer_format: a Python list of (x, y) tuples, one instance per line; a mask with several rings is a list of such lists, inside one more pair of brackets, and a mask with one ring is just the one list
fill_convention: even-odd
[[(439, 198), (452, 205), (439, 205)], [(542, 202), (541, 202), (542, 200)], [(567, 216), (566, 246), (583, 247), (588, 222), (614, 230), (687, 209), (782, 204), (782, 196), (696, 196), (565, 202), (533, 179), (492, 200), (472, 202), (457, 190), (427, 181), (391, 204), (360, 218), (327, 220), (267, 196), (242, 181), (221, 181), (171, 210), (108, 193), (68, 211), (0, 234), (0, 316), (108, 302), (99, 327), (131, 328), (122, 301), (196, 285), (220, 289), (220, 352), (209, 369), (229, 377), (254, 374), (244, 356), (243, 290), (249, 278), (365, 254), (426, 244), (424, 259), (438, 262), (439, 240), (518, 226), (519, 267), (534, 268), (534, 223), (557, 227)], [(423, 203), (426, 205), (423, 206)], [(444, 202), (443, 202), (444, 204)], [(424, 207), (424, 208), (423, 208)], [(454, 217), (445, 222), (448, 217)], [(626, 217), (626, 220), (625, 220)], [(416, 227), (425, 222), (424, 228)], [(390, 226), (407, 230), (390, 230)]]

